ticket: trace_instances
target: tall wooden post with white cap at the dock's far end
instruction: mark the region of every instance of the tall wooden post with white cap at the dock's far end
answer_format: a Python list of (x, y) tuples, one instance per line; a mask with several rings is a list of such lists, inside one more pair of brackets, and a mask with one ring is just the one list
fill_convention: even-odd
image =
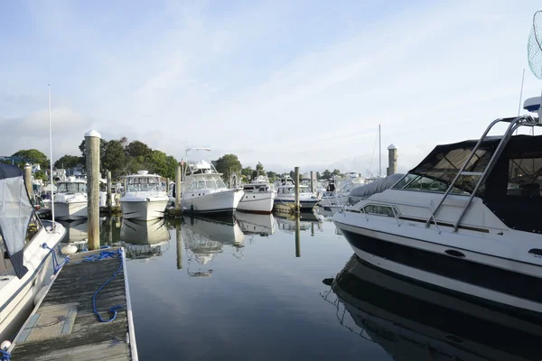
[(87, 202), (89, 208), (89, 250), (99, 248), (99, 143), (101, 135), (94, 129), (85, 134), (87, 156)]

